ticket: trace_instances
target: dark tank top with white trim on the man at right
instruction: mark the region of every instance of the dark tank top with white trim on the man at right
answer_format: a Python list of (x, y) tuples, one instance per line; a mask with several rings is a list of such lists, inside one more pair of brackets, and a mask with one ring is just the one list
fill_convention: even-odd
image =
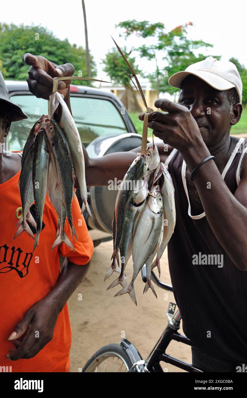
[[(245, 150), (247, 140), (240, 139), (222, 173), (233, 195), (240, 181)], [(175, 230), (168, 244), (169, 271), (183, 331), (203, 351), (247, 364), (247, 271), (241, 271), (231, 261), (204, 213), (196, 218), (188, 214), (186, 164), (181, 154), (173, 150), (165, 163), (173, 179), (177, 213)], [(234, 239), (229, 231), (232, 245)], [(218, 267), (219, 263), (203, 264), (202, 258), (200, 264), (200, 253), (211, 259), (209, 255), (222, 255), (223, 267)], [(198, 264), (195, 264), (195, 254)]]

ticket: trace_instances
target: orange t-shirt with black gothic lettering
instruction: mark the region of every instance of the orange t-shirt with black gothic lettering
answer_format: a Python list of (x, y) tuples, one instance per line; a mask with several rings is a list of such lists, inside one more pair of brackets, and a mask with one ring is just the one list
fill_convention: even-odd
[[(43, 222), (39, 235), (39, 247), (33, 253), (34, 240), (24, 231), (15, 240), (16, 209), (21, 207), (18, 189), (20, 172), (0, 184), (0, 365), (12, 366), (12, 372), (69, 372), (71, 329), (68, 304), (64, 306), (56, 322), (53, 339), (31, 359), (11, 361), (6, 358), (14, 345), (8, 341), (16, 324), (25, 312), (45, 297), (60, 274), (59, 255), (68, 257), (75, 264), (84, 265), (93, 254), (93, 242), (88, 234), (78, 199), (72, 201), (73, 224), (77, 238), (72, 243), (75, 252), (64, 243), (51, 250), (55, 240), (58, 217), (48, 196), (46, 197)], [(66, 219), (65, 233), (70, 238)]]

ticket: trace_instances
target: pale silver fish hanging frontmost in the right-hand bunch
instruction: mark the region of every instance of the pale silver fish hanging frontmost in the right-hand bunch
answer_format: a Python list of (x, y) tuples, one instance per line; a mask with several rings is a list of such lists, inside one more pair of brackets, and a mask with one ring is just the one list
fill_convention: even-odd
[(153, 187), (151, 193), (153, 196), (148, 198), (134, 236), (132, 252), (134, 272), (131, 282), (115, 295), (119, 296), (124, 293), (129, 293), (130, 298), (136, 305), (134, 281), (140, 269), (157, 247), (162, 228), (163, 204), (159, 186), (156, 185)]

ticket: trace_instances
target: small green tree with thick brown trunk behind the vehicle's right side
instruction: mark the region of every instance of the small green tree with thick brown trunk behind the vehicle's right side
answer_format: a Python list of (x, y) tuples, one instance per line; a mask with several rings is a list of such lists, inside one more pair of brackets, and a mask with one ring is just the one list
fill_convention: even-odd
[[(130, 57), (130, 53), (127, 53), (126, 47), (121, 49), (128, 59), (128, 62), (134, 69), (135, 73), (138, 74), (140, 73), (140, 70), (138, 68), (138, 65), (136, 65), (135, 58)], [(113, 56), (112, 56), (112, 55)], [(114, 58), (117, 60), (114, 59)], [(103, 71), (107, 73), (109, 78), (114, 82), (114, 84), (121, 84), (125, 88), (125, 92), (123, 94), (123, 97), (121, 98), (121, 101), (123, 102), (124, 106), (129, 112), (141, 112), (142, 109), (140, 105), (138, 104), (138, 101), (136, 99), (134, 90), (132, 86), (130, 85), (130, 78), (124, 73), (123, 69), (126, 70), (128, 74), (131, 75), (131, 72), (128, 68), (128, 66), (125, 64), (124, 59), (121, 57), (119, 54), (119, 51), (115, 48), (113, 48), (109, 53), (105, 55), (105, 59), (102, 60), (102, 62), (105, 64), (105, 67), (103, 68)], [(122, 66), (119, 66), (119, 64)]]

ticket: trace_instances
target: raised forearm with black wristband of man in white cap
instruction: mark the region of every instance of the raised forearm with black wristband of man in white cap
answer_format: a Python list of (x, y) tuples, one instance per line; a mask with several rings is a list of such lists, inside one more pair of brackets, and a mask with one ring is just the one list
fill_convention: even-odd
[[(195, 148), (187, 150), (182, 153), (182, 156), (191, 173), (197, 164), (210, 156), (210, 152), (206, 145), (203, 144), (197, 147), (196, 150)], [(243, 251), (243, 247), (247, 244), (245, 233), (247, 209), (229, 191), (213, 160), (209, 160), (201, 166), (196, 171), (193, 180), (206, 218), (216, 238), (233, 263), (239, 269), (247, 270), (247, 255)], [(209, 182), (210, 185), (208, 185)], [(231, 236), (234, 237), (234, 244), (229, 239), (229, 231)], [(241, 256), (239, 253), (241, 253)]]

